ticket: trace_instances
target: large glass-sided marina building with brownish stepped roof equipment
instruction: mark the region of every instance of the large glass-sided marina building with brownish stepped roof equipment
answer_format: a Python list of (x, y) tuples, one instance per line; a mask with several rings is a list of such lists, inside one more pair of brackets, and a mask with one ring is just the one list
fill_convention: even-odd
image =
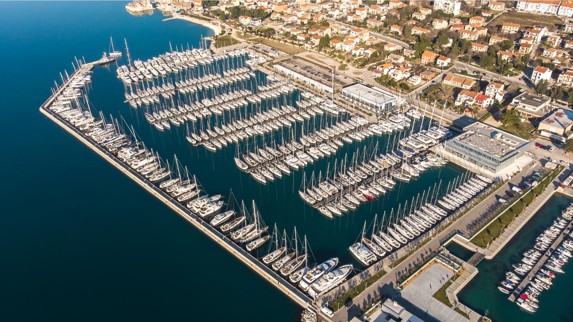
[(461, 117), (458, 123), (462, 134), (445, 143), (446, 151), (493, 174), (511, 167), (531, 146), (528, 140), (470, 117)]

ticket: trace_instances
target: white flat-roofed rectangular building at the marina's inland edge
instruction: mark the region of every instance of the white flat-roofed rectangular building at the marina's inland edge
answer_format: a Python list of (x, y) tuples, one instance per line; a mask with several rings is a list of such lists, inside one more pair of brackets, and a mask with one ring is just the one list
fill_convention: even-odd
[(376, 116), (381, 116), (398, 109), (406, 100), (401, 97), (395, 97), (380, 88), (367, 87), (360, 83), (343, 87), (341, 97), (349, 101), (352, 105), (375, 113)]

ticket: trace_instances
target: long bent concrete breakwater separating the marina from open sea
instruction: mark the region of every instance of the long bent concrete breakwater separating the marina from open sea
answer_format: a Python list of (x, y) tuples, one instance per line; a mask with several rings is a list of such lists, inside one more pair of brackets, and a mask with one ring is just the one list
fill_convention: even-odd
[(242, 249), (240, 246), (234, 244), (227, 238), (224, 234), (220, 231), (215, 229), (213, 226), (209, 225), (209, 223), (203, 221), (203, 219), (197, 217), (195, 214), (191, 213), (188, 209), (180, 205), (176, 202), (170, 195), (164, 193), (164, 191), (160, 190), (158, 187), (154, 186), (151, 182), (145, 179), (143, 176), (138, 174), (132, 170), (132, 168), (125, 165), (119, 159), (117, 159), (114, 155), (110, 154), (108, 151), (104, 150), (100, 147), (96, 142), (89, 139), (85, 136), (82, 132), (78, 129), (72, 127), (72, 125), (68, 124), (64, 119), (58, 116), (56, 113), (53, 113), (48, 109), (49, 105), (56, 99), (58, 95), (69, 85), (70, 80), (73, 78), (74, 74), (80, 71), (87, 71), (91, 70), (93, 66), (98, 65), (98, 62), (93, 62), (89, 64), (84, 64), (80, 66), (79, 69), (76, 70), (69, 78), (59, 87), (56, 91), (54, 91), (53, 95), (49, 97), (48, 100), (45, 101), (44, 104), (40, 107), (40, 112), (47, 116), (50, 120), (54, 123), (59, 125), (61, 128), (65, 129), (68, 133), (73, 135), (76, 139), (80, 140), (85, 146), (90, 148), (92, 151), (96, 152), (97, 155), (101, 156), (101, 158), (105, 159), (107, 162), (112, 164), (117, 170), (122, 172), (124, 175), (128, 176), (128, 178), (134, 180), (139, 186), (143, 187), (148, 193), (153, 195), (154, 197), (158, 198), (159, 201), (163, 202), (166, 206), (170, 209), (175, 211), (178, 215), (184, 218), (187, 222), (191, 223), (191, 225), (195, 226), (199, 231), (202, 231), (207, 237), (211, 238), (216, 244), (221, 246), (223, 249), (227, 250), (227, 252), (233, 254), (238, 260), (243, 262), (246, 266), (254, 270), (257, 274), (259, 274), (262, 278), (266, 281), (270, 282), (273, 286), (275, 286), (278, 290), (284, 293), (289, 299), (293, 300), (296, 304), (300, 305), (303, 309), (311, 309), (314, 312), (319, 311), (319, 307), (316, 307), (312, 304), (312, 300), (295, 286), (289, 284), (285, 278), (281, 277), (278, 273), (274, 272), (272, 269), (268, 268), (257, 258), (253, 257), (250, 253), (246, 252), (246, 250)]

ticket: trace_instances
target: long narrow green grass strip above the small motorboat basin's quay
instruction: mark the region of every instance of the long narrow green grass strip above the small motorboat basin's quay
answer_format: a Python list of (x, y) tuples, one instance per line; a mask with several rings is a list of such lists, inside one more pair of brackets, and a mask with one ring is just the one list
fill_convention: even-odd
[(493, 238), (497, 238), (501, 234), (501, 230), (504, 229), (505, 226), (509, 226), (515, 215), (519, 215), (523, 209), (525, 209), (525, 205), (529, 205), (533, 201), (533, 197), (539, 195), (543, 192), (545, 187), (549, 183), (555, 179), (555, 177), (559, 174), (562, 167), (558, 167), (558, 170), (555, 170), (550, 175), (545, 177), (543, 181), (537, 184), (532, 190), (530, 190), (527, 194), (521, 196), (519, 201), (515, 203), (511, 208), (506, 210), (503, 214), (497, 217), (492, 223), (490, 223), (484, 230), (480, 231), (476, 237), (472, 238), (471, 242), (480, 246), (481, 248), (486, 248), (488, 243), (493, 241)]

